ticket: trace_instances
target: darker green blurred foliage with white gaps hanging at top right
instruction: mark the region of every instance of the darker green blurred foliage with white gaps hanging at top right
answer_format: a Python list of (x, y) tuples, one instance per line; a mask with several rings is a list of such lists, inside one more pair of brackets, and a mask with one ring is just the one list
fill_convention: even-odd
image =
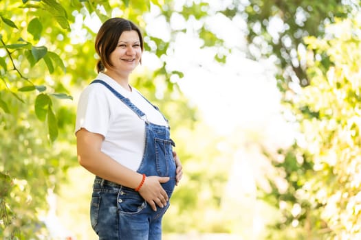
[[(344, 1), (249, 1), (243, 14), (248, 21), (250, 56), (273, 58), (280, 67), (278, 78), (280, 89), (288, 89), (288, 82), (307, 86), (305, 60), (297, 55), (305, 49), (306, 36), (322, 36), (325, 25), (335, 18), (345, 18), (354, 7)], [(357, 3), (354, 3), (357, 5)]]

